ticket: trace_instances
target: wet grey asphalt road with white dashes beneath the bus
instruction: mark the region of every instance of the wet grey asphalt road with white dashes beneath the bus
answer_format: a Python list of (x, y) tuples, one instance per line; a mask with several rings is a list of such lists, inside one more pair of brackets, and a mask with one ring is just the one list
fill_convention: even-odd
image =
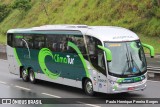
[[(96, 93), (94, 97), (87, 96), (81, 89), (59, 85), (55, 83), (38, 81), (37, 84), (31, 84), (29, 82), (23, 82), (18, 76), (12, 75), (8, 71), (8, 63), (6, 60), (0, 60), (0, 98), (72, 98), (71, 100), (75, 101), (75, 104), (60, 104), (54, 105), (59, 107), (158, 107), (159, 105), (147, 105), (147, 104), (100, 104), (104, 103), (107, 98), (160, 98), (160, 82), (156, 81), (147, 81), (148, 86), (144, 91), (137, 91), (131, 93), (122, 93), (122, 94), (102, 94)], [(85, 99), (86, 98), (86, 99)], [(96, 101), (99, 104), (90, 104), (87, 99)], [(96, 99), (94, 99), (96, 98)], [(83, 100), (81, 100), (83, 99)], [(54, 100), (54, 99), (53, 99)], [(61, 100), (55, 99), (55, 102)], [(65, 100), (62, 102), (66, 103)], [(2, 105), (0, 105), (2, 106)], [(8, 105), (15, 106), (17, 105)], [(19, 105), (21, 106), (21, 105)], [(35, 105), (31, 105), (34, 106)], [(38, 107), (43, 105), (38, 105)], [(53, 105), (45, 105), (50, 107)], [(44, 106), (43, 106), (44, 107)]]

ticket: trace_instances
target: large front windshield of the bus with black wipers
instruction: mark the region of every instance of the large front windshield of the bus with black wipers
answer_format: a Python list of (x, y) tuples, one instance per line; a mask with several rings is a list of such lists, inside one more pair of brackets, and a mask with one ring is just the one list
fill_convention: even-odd
[(105, 42), (112, 52), (112, 61), (108, 62), (109, 74), (118, 77), (142, 75), (147, 71), (143, 47), (139, 40), (131, 42)]

